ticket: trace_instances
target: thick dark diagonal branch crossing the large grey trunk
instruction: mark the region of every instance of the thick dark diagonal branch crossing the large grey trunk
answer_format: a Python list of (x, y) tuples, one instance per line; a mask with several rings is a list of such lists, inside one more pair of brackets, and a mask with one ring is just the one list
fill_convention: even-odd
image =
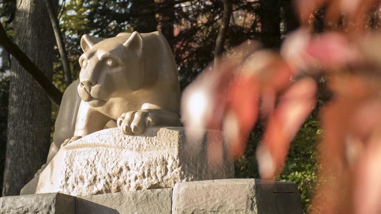
[(56, 104), (60, 105), (62, 99), (62, 93), (58, 90), (53, 83), (50, 82), (48, 78), (43, 75), (42, 71), (37, 67), (37, 65), (26, 56), (24, 52), (22, 52), (13, 41), (11, 41), (5, 33), (4, 28), (0, 24), (0, 45), (11, 54), (14, 58), (16, 58), (20, 65), (27, 71), (42, 87), (42, 89), (46, 92), (47, 96), (50, 100)]

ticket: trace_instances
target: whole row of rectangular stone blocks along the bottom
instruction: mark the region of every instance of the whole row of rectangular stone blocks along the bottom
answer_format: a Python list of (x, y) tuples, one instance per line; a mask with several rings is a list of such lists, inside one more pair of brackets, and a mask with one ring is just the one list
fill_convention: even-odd
[(302, 214), (302, 205), (294, 183), (223, 179), (81, 197), (63, 194), (6, 196), (0, 198), (0, 213)]

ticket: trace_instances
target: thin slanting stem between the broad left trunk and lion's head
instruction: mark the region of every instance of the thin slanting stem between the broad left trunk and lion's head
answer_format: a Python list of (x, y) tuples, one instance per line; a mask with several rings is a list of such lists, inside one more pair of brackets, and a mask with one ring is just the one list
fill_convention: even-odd
[(50, 0), (44, 0), (46, 9), (49, 14), (50, 22), (52, 23), (54, 36), (56, 37), (57, 47), (58, 51), (61, 55), (61, 61), (63, 65), (63, 74), (65, 76), (66, 85), (70, 85), (72, 79), (71, 79), (71, 71), (70, 71), (70, 64), (69, 59), (67, 58), (67, 52), (65, 49), (65, 44), (63, 43), (63, 37), (60, 30), (60, 25), (58, 24), (57, 15), (53, 9), (52, 2)]

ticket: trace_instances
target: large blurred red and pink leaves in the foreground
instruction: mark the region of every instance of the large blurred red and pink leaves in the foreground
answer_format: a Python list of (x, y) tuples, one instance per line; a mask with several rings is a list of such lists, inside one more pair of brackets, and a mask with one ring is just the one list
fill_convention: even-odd
[[(379, 214), (380, 1), (295, 2), (302, 26), (286, 36), (280, 51), (243, 43), (185, 89), (184, 123), (201, 130), (193, 137), (222, 129), (229, 152), (241, 159), (237, 174), (244, 175), (254, 162), (253, 145), (245, 150), (247, 138), (260, 120), (265, 128), (254, 144), (257, 171), (263, 179), (295, 181), (304, 204), (311, 204), (304, 212)], [(314, 16), (317, 9), (324, 10), (323, 20)], [(313, 32), (321, 21), (324, 32)], [(327, 82), (326, 95), (319, 91), (320, 79)], [(321, 131), (309, 116), (320, 95), (330, 98), (318, 109), (324, 136), (316, 144), (309, 141)], [(192, 111), (196, 96), (204, 107)], [(256, 141), (251, 138), (249, 143)]]

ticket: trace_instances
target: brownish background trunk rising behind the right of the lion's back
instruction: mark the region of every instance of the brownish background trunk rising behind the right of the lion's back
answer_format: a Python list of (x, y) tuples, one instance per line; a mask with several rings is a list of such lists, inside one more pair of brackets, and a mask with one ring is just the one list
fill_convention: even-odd
[[(173, 24), (175, 17), (174, 11), (174, 0), (157, 0), (157, 3), (163, 7), (159, 11), (159, 26), (160, 31), (163, 33), (165, 38), (168, 40), (170, 48), (173, 50)], [(168, 5), (168, 6), (167, 6)], [(172, 5), (172, 6), (170, 6)]]

